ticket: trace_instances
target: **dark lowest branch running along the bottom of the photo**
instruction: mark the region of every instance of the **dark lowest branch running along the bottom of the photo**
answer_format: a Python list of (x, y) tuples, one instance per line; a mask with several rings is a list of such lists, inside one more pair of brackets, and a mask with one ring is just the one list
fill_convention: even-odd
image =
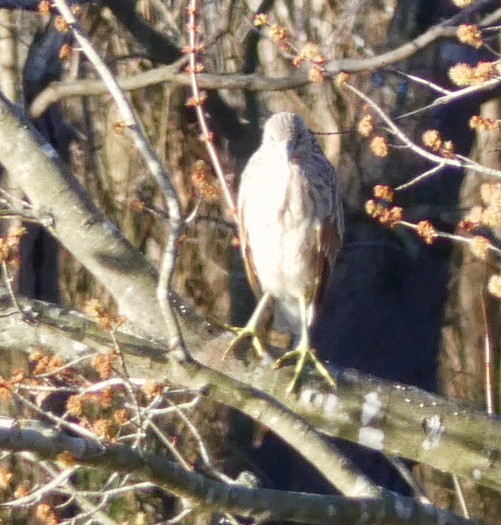
[[(10, 425), (9, 425), (10, 423)], [(10, 427), (9, 427), (10, 426)], [(388, 492), (383, 499), (344, 498), (271, 489), (248, 489), (225, 485), (169, 461), (163, 456), (138, 452), (126, 445), (106, 444), (71, 437), (55, 430), (14, 428), (13, 420), (0, 427), (0, 447), (4, 450), (30, 450), (56, 459), (69, 451), (78, 462), (98, 468), (146, 474), (169, 492), (212, 511), (226, 511), (259, 521), (293, 521), (318, 524), (420, 523), (471, 524), (443, 509), (423, 505), (410, 498)]]

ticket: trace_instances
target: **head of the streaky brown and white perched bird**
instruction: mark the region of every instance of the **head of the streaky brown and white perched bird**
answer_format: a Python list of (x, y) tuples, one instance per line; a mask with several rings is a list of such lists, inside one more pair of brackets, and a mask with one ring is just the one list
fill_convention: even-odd
[(296, 113), (276, 113), (264, 124), (263, 144), (283, 151), (289, 161), (303, 160), (311, 154), (312, 135)]

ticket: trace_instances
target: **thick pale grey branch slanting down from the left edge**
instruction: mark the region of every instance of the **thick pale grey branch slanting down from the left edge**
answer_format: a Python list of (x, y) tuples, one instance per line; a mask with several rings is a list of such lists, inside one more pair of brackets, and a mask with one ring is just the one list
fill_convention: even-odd
[(91, 201), (56, 151), (27, 121), (19, 120), (0, 95), (0, 162), (50, 231), (106, 286), (121, 313), (157, 339), (165, 322), (156, 303), (156, 274)]

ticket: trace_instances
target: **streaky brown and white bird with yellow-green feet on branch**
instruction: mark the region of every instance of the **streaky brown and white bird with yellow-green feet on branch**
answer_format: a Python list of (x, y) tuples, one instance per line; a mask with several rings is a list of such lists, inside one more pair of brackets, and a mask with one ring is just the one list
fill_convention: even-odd
[(274, 300), (275, 326), (299, 339), (275, 362), (279, 367), (297, 359), (287, 393), (296, 389), (308, 361), (335, 387), (311, 348), (310, 326), (342, 247), (343, 203), (334, 166), (298, 114), (280, 112), (265, 122), (261, 145), (242, 172), (237, 217), (247, 278), (260, 300), (246, 327), (234, 328), (237, 337), (225, 355), (251, 338), (262, 358), (258, 327)]

